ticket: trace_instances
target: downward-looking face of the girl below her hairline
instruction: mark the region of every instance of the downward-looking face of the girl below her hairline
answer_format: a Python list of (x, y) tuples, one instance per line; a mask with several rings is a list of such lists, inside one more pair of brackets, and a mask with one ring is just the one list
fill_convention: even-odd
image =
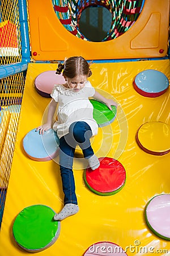
[(69, 77), (65, 77), (65, 80), (70, 89), (73, 89), (75, 92), (78, 92), (84, 87), (85, 82), (87, 81), (87, 76), (78, 75), (73, 79), (70, 79)]

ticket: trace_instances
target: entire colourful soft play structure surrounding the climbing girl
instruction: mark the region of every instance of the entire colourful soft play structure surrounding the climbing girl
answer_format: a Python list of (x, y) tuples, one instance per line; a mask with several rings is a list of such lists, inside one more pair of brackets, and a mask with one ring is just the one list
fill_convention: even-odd
[[(101, 42), (80, 29), (88, 8), (112, 14)], [(168, 31), (169, 0), (0, 1), (0, 256), (170, 255)], [(63, 82), (58, 61), (80, 55), (117, 108), (90, 99), (100, 167), (76, 148), (79, 212), (54, 221), (63, 207), (58, 137), (36, 127)]]

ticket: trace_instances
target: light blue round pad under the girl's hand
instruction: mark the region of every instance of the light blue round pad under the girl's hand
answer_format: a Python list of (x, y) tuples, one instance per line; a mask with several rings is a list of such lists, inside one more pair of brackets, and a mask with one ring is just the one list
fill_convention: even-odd
[(59, 138), (56, 131), (50, 129), (43, 135), (33, 129), (23, 139), (23, 148), (29, 158), (37, 161), (48, 161), (56, 157)]

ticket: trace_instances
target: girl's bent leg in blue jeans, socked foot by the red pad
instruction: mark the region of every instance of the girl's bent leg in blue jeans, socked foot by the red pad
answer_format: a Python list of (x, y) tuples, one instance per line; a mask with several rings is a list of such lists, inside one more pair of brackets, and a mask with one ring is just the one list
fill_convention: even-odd
[(69, 133), (70, 135), (72, 134), (75, 143), (82, 148), (84, 158), (88, 160), (88, 164), (92, 170), (98, 168), (100, 166), (100, 162), (94, 154), (90, 143), (90, 138), (92, 136), (90, 126), (83, 121), (74, 122), (70, 125)]

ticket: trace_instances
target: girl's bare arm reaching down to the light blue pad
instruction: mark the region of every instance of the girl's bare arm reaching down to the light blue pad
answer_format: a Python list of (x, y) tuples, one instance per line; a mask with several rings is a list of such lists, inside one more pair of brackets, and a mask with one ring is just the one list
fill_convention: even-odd
[(53, 99), (50, 101), (49, 108), (48, 108), (48, 115), (47, 115), (47, 121), (44, 123), (44, 125), (41, 125), (37, 127), (36, 131), (40, 131), (40, 134), (43, 134), (44, 131), (47, 131), (52, 128), (52, 122), (54, 113), (56, 112), (57, 103)]

